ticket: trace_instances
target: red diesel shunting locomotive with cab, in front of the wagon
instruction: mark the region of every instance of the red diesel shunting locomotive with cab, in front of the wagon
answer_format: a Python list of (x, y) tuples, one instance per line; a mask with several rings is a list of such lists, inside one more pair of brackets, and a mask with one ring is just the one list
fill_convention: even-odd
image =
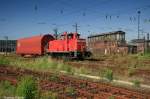
[(81, 39), (78, 33), (64, 32), (60, 39), (49, 42), (48, 53), (54, 57), (83, 58), (86, 55), (86, 40)]

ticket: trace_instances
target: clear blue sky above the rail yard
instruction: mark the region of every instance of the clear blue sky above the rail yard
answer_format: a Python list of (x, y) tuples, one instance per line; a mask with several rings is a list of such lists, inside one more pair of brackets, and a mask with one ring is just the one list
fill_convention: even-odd
[(0, 0), (0, 39), (74, 32), (83, 38), (122, 30), (126, 40), (150, 33), (150, 0)]

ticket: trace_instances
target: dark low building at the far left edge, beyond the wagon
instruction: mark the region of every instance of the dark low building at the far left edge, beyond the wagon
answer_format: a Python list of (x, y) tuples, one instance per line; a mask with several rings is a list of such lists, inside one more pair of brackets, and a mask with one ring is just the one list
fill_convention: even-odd
[(16, 52), (16, 40), (0, 40), (0, 52)]

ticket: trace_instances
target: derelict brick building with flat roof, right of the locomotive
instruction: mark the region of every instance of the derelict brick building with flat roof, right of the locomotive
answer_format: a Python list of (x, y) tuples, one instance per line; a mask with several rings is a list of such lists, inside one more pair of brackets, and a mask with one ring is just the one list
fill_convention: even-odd
[(127, 54), (125, 32), (99, 33), (88, 37), (88, 48), (94, 56), (101, 54)]

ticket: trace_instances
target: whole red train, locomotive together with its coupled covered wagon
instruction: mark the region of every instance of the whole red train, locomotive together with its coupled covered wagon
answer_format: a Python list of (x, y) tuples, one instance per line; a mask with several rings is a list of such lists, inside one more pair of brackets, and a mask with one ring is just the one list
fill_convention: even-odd
[(39, 35), (17, 40), (16, 53), (19, 55), (45, 55), (54, 57), (83, 58), (89, 56), (86, 40), (80, 38), (78, 33), (64, 32), (59, 39), (52, 35)]

